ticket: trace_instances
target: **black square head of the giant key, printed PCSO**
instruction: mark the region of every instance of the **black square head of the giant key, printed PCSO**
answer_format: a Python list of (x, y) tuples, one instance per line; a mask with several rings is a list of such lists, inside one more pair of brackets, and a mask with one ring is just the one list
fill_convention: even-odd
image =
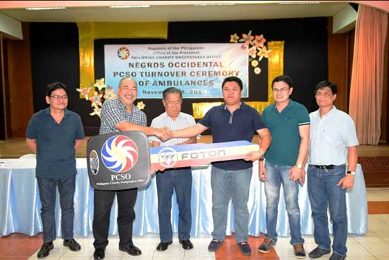
[(97, 190), (124, 190), (150, 181), (147, 136), (126, 131), (92, 136), (87, 145), (90, 184)]

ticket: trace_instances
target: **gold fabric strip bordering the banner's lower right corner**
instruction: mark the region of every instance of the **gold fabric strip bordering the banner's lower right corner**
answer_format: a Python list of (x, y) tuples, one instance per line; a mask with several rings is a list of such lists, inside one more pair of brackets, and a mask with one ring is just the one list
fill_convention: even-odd
[[(268, 74), (267, 74), (267, 101), (245, 101), (245, 103), (262, 113), (262, 111), (274, 102), (272, 81), (276, 76), (283, 74), (283, 46), (285, 41), (267, 42), (267, 48), (272, 52), (269, 54), (267, 60)], [(251, 69), (251, 68), (250, 68)], [(260, 75), (259, 75), (260, 76)], [(213, 106), (219, 106), (222, 102), (199, 102), (192, 103), (193, 117), (201, 119)]]

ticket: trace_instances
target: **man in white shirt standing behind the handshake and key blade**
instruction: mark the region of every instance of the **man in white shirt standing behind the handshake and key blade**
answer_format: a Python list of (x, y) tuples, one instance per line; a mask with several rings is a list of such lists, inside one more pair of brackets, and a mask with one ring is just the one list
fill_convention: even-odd
[[(163, 106), (165, 113), (154, 118), (151, 127), (171, 130), (179, 130), (192, 127), (196, 124), (192, 115), (181, 112), (182, 93), (178, 88), (163, 90)], [(151, 136), (153, 146), (169, 146), (196, 143), (196, 137), (172, 138), (166, 142)], [(168, 169), (156, 174), (158, 193), (158, 219), (160, 243), (158, 251), (165, 251), (172, 244), (173, 232), (170, 222), (172, 210), (173, 190), (176, 190), (177, 204), (179, 205), (179, 243), (183, 249), (193, 248), (190, 242), (190, 228), (192, 225), (192, 211), (190, 209), (190, 197), (192, 193), (192, 170), (190, 167)]]

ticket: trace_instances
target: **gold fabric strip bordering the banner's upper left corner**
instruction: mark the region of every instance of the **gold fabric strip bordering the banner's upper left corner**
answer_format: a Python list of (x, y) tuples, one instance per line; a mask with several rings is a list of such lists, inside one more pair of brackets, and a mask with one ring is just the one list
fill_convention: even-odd
[(94, 83), (94, 40), (126, 38), (167, 39), (167, 22), (81, 22), (78, 26), (80, 86)]

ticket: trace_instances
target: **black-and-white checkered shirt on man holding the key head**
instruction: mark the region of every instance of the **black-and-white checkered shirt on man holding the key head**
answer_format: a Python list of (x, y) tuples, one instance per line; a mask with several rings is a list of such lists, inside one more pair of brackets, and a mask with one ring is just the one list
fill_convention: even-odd
[(116, 125), (121, 122), (131, 122), (147, 127), (146, 114), (134, 105), (131, 112), (127, 111), (126, 106), (118, 97), (104, 102), (100, 117), (100, 134), (119, 132), (120, 130), (116, 128)]

